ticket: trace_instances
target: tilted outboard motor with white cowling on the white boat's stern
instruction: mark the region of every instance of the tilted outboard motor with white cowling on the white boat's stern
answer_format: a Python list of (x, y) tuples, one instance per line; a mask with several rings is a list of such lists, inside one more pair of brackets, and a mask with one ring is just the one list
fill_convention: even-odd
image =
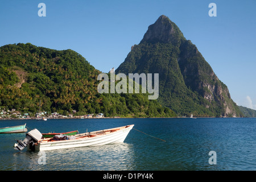
[(17, 140), (18, 143), (15, 143), (14, 147), (18, 148), (18, 150), (23, 150), (28, 144), (34, 146), (34, 144), (38, 142), (42, 136), (43, 135), (37, 129), (31, 130), (26, 134), (26, 138), (24, 140)]

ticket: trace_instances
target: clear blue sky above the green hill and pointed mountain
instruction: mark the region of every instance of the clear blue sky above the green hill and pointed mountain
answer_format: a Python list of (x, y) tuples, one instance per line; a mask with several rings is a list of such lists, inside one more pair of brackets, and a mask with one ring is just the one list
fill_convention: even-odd
[[(209, 3), (217, 16), (210, 17)], [(39, 17), (39, 3), (46, 17)], [(176, 23), (238, 105), (256, 109), (256, 1), (2, 0), (0, 46), (73, 49), (96, 69), (117, 68), (160, 15)]]

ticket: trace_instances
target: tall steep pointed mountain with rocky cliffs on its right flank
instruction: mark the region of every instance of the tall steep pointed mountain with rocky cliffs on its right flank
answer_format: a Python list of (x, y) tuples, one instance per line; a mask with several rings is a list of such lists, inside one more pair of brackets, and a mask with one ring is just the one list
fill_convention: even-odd
[(243, 115), (196, 46), (164, 15), (131, 47), (116, 73), (159, 73), (158, 100), (178, 115)]

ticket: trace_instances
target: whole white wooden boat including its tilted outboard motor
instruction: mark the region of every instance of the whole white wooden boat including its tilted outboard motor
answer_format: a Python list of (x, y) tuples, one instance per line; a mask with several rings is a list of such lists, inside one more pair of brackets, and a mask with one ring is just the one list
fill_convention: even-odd
[[(86, 146), (99, 146), (110, 143), (122, 143), (134, 125), (115, 127), (113, 129), (99, 130), (88, 133), (76, 134), (72, 136), (60, 135), (59, 139), (42, 138), (42, 134), (37, 129), (31, 130), (24, 140), (18, 140), (18, 144), (14, 144), (14, 148), (23, 150), (27, 147), (32, 151), (57, 150), (61, 148), (75, 148)], [(64, 140), (62, 140), (64, 139)]]

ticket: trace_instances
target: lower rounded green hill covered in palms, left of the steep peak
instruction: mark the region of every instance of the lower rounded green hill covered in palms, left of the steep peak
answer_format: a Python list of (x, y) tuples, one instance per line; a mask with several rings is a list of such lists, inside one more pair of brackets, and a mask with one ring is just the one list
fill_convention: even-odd
[(0, 107), (24, 113), (104, 113), (111, 117), (174, 117), (147, 94), (100, 94), (95, 69), (71, 49), (56, 51), (30, 43), (0, 47)]

